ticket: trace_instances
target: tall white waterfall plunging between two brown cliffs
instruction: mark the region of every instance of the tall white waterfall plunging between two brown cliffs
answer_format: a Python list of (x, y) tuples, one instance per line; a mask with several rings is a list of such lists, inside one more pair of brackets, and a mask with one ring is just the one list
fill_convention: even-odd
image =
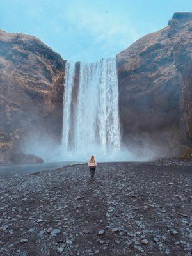
[(87, 159), (94, 154), (107, 160), (114, 156), (120, 150), (116, 58), (67, 62), (64, 86), (65, 158)]

